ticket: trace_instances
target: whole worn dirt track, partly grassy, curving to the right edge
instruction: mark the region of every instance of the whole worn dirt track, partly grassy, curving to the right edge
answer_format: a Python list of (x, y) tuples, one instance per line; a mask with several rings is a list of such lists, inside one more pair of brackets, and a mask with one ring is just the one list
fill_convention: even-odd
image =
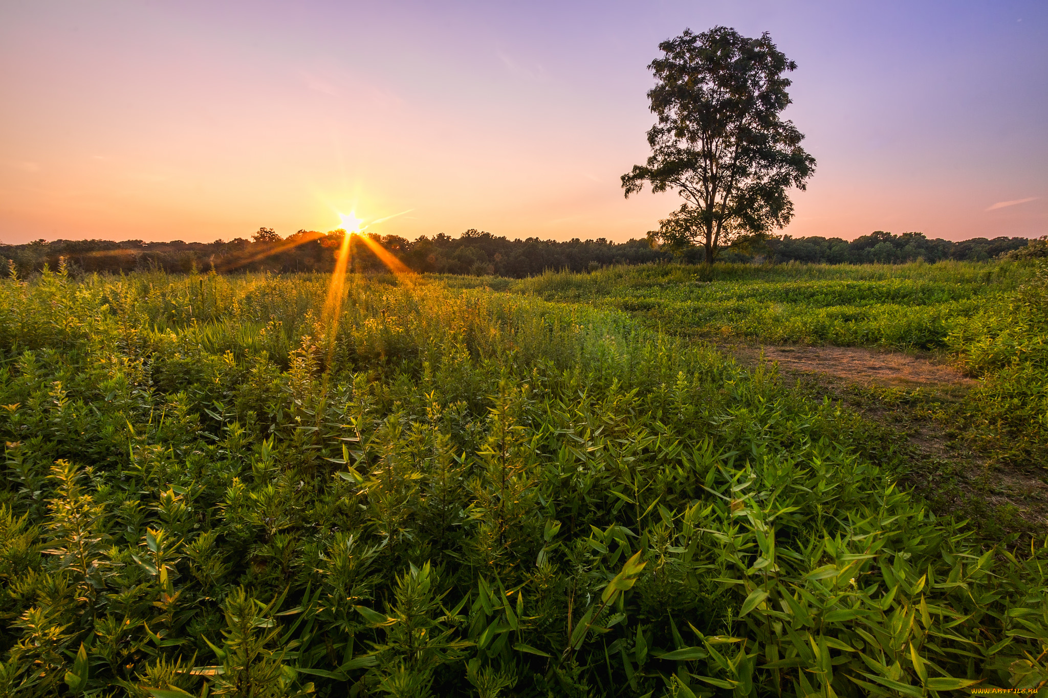
[[(1044, 471), (990, 465), (966, 449), (943, 405), (957, 403), (978, 384), (930, 354), (858, 346), (764, 346), (722, 344), (742, 363), (778, 363), (785, 379), (816, 395), (840, 400), (893, 433), (912, 450), (908, 478), (925, 497), (1002, 535), (1048, 530), (1048, 481)], [(895, 399), (901, 396), (903, 399)], [(937, 405), (939, 407), (937, 407)]]

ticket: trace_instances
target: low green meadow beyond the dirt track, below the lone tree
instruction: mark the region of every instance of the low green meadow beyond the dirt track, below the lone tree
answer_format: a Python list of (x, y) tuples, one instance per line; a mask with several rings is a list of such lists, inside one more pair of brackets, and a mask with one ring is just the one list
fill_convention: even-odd
[(507, 286), (623, 310), (717, 343), (831, 344), (932, 355), (980, 380), (935, 405), (991, 464), (1048, 464), (1048, 271), (1030, 262), (661, 265), (547, 272)]

